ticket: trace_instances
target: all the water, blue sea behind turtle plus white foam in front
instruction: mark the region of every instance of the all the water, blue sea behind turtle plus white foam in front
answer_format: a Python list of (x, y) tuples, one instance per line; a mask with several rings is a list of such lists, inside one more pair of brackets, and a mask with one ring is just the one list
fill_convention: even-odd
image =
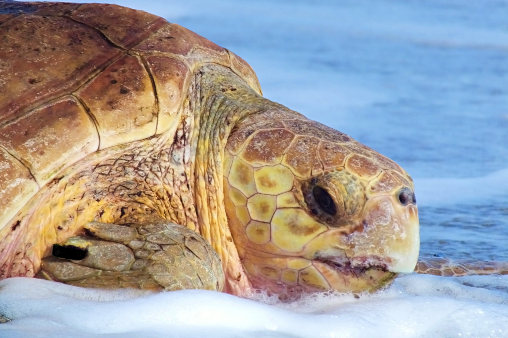
[[(100, 1), (102, 2), (102, 1)], [(113, 1), (115, 2), (115, 1)], [(414, 178), (421, 256), (508, 260), (507, 0), (116, 1), (231, 49), (264, 96)], [(293, 305), (0, 282), (1, 337), (504, 337), (508, 279), (403, 276)]]

